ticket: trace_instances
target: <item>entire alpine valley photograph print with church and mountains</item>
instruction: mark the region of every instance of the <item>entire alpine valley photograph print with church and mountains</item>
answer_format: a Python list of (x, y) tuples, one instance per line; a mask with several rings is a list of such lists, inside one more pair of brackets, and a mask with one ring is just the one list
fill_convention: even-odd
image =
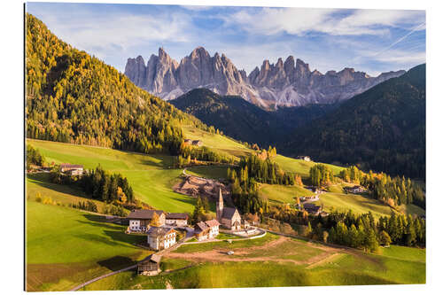
[(24, 7), (25, 289), (426, 283), (426, 13)]

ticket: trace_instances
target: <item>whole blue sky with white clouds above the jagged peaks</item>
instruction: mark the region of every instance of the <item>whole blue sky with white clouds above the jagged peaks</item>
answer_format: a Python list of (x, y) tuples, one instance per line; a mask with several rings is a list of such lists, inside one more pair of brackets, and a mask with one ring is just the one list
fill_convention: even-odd
[(159, 47), (180, 62), (203, 46), (247, 74), (290, 55), (323, 74), (353, 67), (375, 76), (425, 62), (424, 11), (28, 3), (27, 12), (121, 72)]

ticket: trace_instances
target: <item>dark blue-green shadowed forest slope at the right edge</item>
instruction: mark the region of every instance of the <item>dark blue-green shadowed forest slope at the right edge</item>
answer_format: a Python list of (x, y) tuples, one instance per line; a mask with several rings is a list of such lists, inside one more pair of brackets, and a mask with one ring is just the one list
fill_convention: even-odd
[(416, 66), (349, 99), (297, 129), (284, 152), (424, 179), (425, 74), (425, 65)]

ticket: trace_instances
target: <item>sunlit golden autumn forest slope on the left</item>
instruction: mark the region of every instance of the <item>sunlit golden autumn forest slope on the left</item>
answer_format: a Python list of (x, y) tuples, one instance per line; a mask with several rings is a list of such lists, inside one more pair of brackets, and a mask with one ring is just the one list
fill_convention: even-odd
[[(176, 154), (180, 124), (205, 127), (26, 16), (27, 137)], [(205, 127), (206, 128), (206, 127)]]

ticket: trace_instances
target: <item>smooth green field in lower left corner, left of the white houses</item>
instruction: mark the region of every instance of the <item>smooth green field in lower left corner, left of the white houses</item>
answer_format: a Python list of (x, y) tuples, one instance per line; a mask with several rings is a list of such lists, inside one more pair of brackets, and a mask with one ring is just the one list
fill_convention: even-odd
[(151, 253), (134, 245), (145, 237), (102, 216), (34, 201), (26, 210), (28, 291), (66, 291)]

